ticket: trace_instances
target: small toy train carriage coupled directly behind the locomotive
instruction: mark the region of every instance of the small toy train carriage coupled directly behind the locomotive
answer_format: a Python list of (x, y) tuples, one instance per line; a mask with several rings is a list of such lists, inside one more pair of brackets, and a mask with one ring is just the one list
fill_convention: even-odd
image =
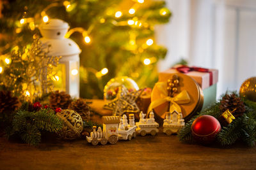
[[(123, 116), (123, 118), (127, 117), (125, 115), (125, 117)], [(119, 125), (120, 127), (120, 125)], [(129, 115), (129, 125), (127, 125), (127, 129), (118, 129), (118, 138), (119, 139), (124, 139), (124, 140), (129, 140), (131, 141), (132, 137), (135, 138), (136, 137), (136, 129), (137, 126), (134, 125), (134, 114), (130, 114)]]

